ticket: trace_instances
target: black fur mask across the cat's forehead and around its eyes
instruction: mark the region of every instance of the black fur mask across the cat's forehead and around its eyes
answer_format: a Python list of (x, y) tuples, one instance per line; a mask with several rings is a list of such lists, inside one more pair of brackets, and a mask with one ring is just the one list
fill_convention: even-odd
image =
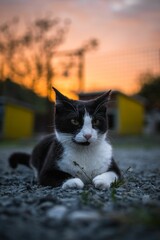
[[(97, 105), (98, 107), (99, 105)], [(68, 102), (60, 102), (56, 105), (55, 125), (56, 129), (62, 133), (77, 134), (84, 123), (84, 115), (87, 111), (92, 117), (93, 121), (98, 119), (99, 125), (94, 127), (98, 132), (105, 133), (108, 128), (107, 121), (107, 106), (99, 106), (99, 109), (95, 112), (96, 102), (82, 102), (68, 100)], [(71, 120), (76, 119), (79, 124), (73, 125)]]

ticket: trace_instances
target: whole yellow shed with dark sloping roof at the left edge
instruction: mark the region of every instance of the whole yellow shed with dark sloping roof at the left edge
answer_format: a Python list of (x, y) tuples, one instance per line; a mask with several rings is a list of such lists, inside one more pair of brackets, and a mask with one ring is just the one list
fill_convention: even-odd
[(31, 137), (34, 129), (34, 111), (26, 104), (0, 99), (0, 138)]

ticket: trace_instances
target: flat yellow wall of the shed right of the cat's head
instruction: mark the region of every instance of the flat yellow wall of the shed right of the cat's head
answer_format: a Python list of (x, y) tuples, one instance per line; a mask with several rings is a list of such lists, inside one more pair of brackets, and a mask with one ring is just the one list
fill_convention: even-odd
[(118, 133), (140, 134), (143, 131), (144, 107), (123, 94), (118, 95)]

